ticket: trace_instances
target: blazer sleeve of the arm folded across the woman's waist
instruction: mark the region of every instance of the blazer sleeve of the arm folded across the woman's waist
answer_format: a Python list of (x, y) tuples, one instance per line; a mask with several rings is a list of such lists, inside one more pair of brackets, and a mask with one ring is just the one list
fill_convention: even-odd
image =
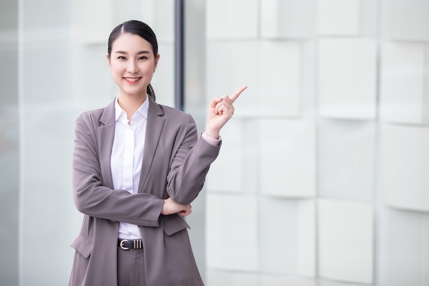
[(88, 114), (81, 115), (76, 120), (73, 149), (73, 200), (77, 210), (117, 222), (158, 226), (164, 200), (103, 185), (97, 141), (95, 124)]

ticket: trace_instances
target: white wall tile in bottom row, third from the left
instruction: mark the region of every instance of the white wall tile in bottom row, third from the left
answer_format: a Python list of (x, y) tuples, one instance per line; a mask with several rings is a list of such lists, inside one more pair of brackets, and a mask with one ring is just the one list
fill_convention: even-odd
[(319, 275), (355, 283), (373, 282), (371, 204), (318, 202)]

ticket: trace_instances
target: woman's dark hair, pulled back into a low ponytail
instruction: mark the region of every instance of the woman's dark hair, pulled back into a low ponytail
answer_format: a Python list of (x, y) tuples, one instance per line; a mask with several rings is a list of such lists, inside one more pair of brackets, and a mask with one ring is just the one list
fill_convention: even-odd
[[(112, 29), (112, 32), (110, 33), (109, 41), (108, 41), (109, 58), (110, 58), (110, 54), (112, 53), (112, 45), (114, 40), (116, 40), (123, 33), (131, 33), (144, 38), (152, 45), (155, 58), (158, 56), (158, 41), (156, 40), (154, 31), (151, 29), (151, 27), (149, 27), (147, 24), (143, 22), (131, 20), (131, 21), (126, 21), (122, 24), (119, 24), (117, 25), (117, 27)], [(151, 99), (155, 101), (156, 99), (155, 91), (154, 91), (154, 88), (151, 86), (151, 84), (147, 85), (146, 92), (149, 95), (149, 97), (151, 97)]]

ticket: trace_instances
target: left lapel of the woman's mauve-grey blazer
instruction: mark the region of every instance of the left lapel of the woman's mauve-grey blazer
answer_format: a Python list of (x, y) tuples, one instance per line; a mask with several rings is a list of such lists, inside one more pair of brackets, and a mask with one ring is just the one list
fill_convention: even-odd
[(112, 147), (114, 140), (114, 101), (104, 108), (100, 117), (100, 126), (98, 128), (98, 146), (99, 160), (101, 168), (101, 178), (103, 185), (113, 189), (112, 171), (110, 171), (110, 157), (112, 156)]

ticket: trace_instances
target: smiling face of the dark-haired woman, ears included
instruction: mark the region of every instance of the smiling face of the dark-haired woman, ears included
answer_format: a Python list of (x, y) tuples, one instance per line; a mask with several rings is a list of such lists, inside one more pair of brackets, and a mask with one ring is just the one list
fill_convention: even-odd
[(107, 55), (119, 95), (145, 97), (159, 58), (144, 38), (131, 33), (119, 35), (112, 44), (110, 58)]

